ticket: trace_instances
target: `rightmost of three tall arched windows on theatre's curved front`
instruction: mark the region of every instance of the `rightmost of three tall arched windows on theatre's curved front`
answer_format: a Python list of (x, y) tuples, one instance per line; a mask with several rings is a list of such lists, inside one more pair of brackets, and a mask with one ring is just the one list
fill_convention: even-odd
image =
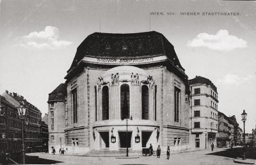
[(143, 85), (141, 88), (141, 102), (142, 102), (142, 119), (148, 120), (148, 87)]

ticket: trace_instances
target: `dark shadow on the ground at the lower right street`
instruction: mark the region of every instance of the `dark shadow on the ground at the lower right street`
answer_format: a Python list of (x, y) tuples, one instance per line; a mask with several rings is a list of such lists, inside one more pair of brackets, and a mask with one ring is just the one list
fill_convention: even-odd
[[(246, 148), (246, 159), (256, 159), (256, 148)], [(243, 155), (243, 148), (237, 147), (237, 148), (227, 148), (225, 150), (222, 150), (220, 152), (212, 152), (211, 154), (206, 155), (218, 155), (223, 157), (231, 157), (234, 159), (237, 159), (237, 157), (242, 157)]]

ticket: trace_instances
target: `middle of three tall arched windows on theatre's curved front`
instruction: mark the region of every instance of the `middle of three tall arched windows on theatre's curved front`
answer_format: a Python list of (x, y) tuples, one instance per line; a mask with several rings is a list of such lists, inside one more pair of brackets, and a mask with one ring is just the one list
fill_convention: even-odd
[(121, 118), (130, 118), (130, 90), (129, 85), (121, 85)]

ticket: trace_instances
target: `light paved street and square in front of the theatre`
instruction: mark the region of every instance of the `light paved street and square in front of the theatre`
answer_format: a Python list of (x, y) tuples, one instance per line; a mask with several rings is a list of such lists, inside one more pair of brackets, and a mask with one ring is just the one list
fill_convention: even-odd
[[(53, 160), (53, 164), (255, 164), (255, 159), (242, 160), (237, 157), (236, 159), (231, 157), (225, 157), (216, 153), (225, 152), (228, 148), (214, 148), (206, 150), (190, 150), (189, 152), (182, 152), (177, 154), (171, 154), (170, 159), (166, 159), (166, 154), (162, 153), (160, 158), (156, 156), (143, 156), (139, 155), (74, 155), (65, 153), (61, 154), (45, 154), (45, 153), (29, 153), (26, 155), (38, 156), (41, 160)], [(129, 158), (129, 159), (128, 159)], [(44, 164), (42, 162), (36, 162), (36, 164)]]

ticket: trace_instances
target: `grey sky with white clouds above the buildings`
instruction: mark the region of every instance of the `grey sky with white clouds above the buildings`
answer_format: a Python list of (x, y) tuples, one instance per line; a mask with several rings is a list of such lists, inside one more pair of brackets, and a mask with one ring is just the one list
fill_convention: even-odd
[(248, 113), (246, 132), (252, 132), (255, 20), (256, 1), (0, 0), (0, 94), (16, 92), (44, 116), (48, 94), (65, 82), (89, 34), (157, 31), (172, 43), (189, 79), (204, 76), (216, 85), (219, 111), (236, 115), (241, 128), (241, 113)]

